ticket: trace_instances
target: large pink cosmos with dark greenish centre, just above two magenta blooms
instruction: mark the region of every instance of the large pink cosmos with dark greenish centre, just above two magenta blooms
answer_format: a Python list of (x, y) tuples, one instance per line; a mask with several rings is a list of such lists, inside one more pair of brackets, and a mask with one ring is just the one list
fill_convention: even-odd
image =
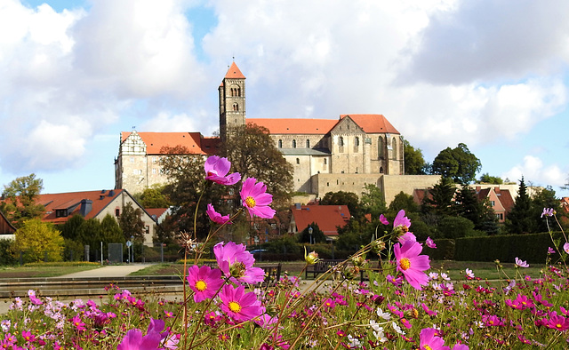
[(232, 281), (254, 284), (265, 279), (265, 271), (260, 267), (253, 267), (255, 262), (252, 254), (245, 250), (243, 244), (223, 242), (215, 244), (213, 253), (221, 272)]

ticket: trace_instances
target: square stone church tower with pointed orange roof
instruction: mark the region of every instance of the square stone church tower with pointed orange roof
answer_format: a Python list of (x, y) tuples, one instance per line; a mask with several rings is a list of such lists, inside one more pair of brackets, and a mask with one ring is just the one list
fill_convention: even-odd
[(245, 77), (235, 62), (223, 78), (220, 91), (220, 137), (224, 142), (228, 131), (245, 124)]

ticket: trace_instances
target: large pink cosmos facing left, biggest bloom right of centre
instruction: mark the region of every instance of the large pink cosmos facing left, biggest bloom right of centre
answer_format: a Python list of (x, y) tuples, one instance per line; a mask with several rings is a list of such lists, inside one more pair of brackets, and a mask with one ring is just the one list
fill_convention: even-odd
[(411, 241), (406, 241), (403, 245), (400, 243), (393, 245), (393, 252), (397, 259), (397, 270), (417, 290), (421, 290), (421, 285), (429, 283), (429, 276), (423, 272), (430, 268), (429, 256), (419, 255), (422, 249), (420, 243)]

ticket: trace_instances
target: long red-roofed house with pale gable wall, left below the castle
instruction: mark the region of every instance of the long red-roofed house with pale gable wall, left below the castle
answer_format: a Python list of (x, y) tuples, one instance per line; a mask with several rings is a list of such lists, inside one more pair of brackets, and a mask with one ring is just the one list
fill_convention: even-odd
[(84, 219), (102, 220), (107, 214), (117, 219), (121, 215), (123, 207), (131, 203), (135, 210), (140, 209), (142, 211), (141, 219), (146, 227), (144, 244), (152, 246), (156, 221), (124, 189), (38, 195), (36, 203), (45, 207), (42, 221), (51, 222), (55, 225), (66, 223), (69, 218), (76, 214), (81, 215)]

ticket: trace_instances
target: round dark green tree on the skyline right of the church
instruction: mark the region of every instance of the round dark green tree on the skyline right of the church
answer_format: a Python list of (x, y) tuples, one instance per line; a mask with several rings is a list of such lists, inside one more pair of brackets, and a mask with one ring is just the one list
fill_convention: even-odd
[(442, 175), (445, 179), (453, 179), (455, 183), (469, 184), (476, 179), (476, 174), (482, 164), (476, 155), (469, 151), (469, 147), (460, 143), (454, 149), (446, 147), (433, 161), (433, 172)]

